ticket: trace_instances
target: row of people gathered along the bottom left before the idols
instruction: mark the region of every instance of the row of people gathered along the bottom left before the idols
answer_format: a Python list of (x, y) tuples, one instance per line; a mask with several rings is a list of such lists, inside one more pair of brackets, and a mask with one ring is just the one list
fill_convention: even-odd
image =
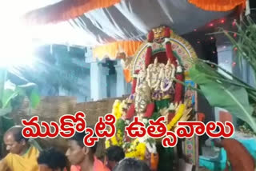
[[(105, 161), (96, 156), (97, 143), (87, 147), (83, 143), (86, 133), (75, 133), (68, 140), (66, 153), (50, 148), (40, 151), (22, 136), (22, 126), (6, 131), (4, 142), (10, 152), (0, 161), (1, 171), (149, 171), (144, 161), (126, 158), (123, 149), (106, 149)], [(69, 167), (70, 165), (70, 167)]]

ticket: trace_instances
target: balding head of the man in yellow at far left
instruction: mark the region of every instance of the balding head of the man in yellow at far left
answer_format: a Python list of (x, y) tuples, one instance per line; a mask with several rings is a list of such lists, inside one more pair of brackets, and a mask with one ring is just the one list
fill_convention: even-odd
[(26, 150), (29, 139), (22, 136), (22, 129), (22, 126), (16, 125), (6, 131), (4, 142), (10, 153), (22, 154)]

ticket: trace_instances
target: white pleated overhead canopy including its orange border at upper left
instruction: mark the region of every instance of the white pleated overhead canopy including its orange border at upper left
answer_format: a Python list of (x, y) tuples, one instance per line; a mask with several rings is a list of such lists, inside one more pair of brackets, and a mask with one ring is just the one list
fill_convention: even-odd
[[(30, 11), (22, 18), (27, 26), (45, 25), (27, 28), (35, 39), (70, 46), (98, 46), (113, 41), (144, 41), (152, 26), (162, 23), (184, 35), (206, 22), (234, 14), (234, 10), (200, 10), (188, 1), (62, 0)], [(194, 18), (200, 22), (194, 22)]]

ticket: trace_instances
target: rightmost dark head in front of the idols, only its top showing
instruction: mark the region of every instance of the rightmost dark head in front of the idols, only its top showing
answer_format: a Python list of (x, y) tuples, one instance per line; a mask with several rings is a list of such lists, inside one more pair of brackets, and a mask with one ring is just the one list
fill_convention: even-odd
[(118, 163), (114, 171), (150, 171), (150, 167), (143, 161), (134, 158), (125, 158)]

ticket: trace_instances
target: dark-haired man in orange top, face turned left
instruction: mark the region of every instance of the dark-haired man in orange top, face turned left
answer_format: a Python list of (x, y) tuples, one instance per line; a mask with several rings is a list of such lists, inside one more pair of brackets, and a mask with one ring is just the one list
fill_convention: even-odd
[[(85, 132), (75, 133), (70, 138), (69, 148), (66, 151), (71, 165), (71, 171), (110, 171), (102, 161), (95, 157), (97, 143), (92, 147), (87, 147), (83, 143)], [(94, 136), (95, 137), (95, 136)]]

